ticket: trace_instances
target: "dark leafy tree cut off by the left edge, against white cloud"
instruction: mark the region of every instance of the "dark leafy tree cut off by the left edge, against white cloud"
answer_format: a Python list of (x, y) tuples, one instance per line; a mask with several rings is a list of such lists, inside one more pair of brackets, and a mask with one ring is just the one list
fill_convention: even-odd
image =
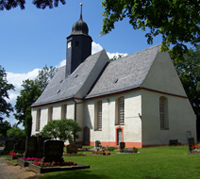
[(9, 113), (13, 111), (13, 107), (6, 101), (9, 99), (9, 90), (14, 90), (14, 86), (7, 81), (7, 74), (0, 65), (0, 125), (3, 123), (3, 116), (9, 117)]

